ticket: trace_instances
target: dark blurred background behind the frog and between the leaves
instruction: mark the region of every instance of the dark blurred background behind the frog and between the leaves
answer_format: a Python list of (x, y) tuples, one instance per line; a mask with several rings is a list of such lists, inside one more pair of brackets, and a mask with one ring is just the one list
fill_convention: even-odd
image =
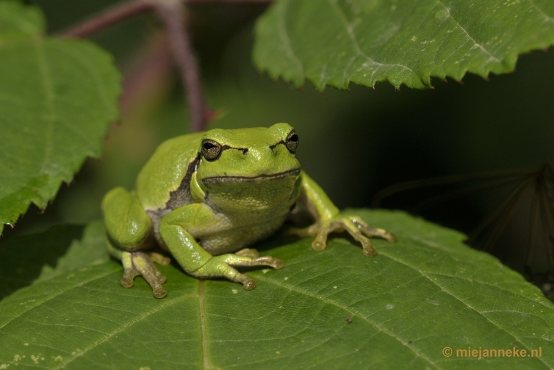
[[(114, 1), (35, 0), (48, 33), (93, 15)], [(204, 93), (217, 119), (209, 127), (296, 127), (303, 168), (339, 208), (368, 207), (379, 189), (412, 179), (518, 168), (554, 160), (554, 53), (521, 55), (515, 73), (463, 83), (434, 79), (434, 89), (401, 91), (387, 83), (373, 89), (303, 91), (272, 81), (251, 62), (253, 23), (265, 6), (197, 5), (187, 12)], [(100, 160), (89, 159), (70, 186), (62, 186), (44, 214), (31, 208), (5, 238), (59, 222), (101, 217), (102, 195), (114, 186), (132, 188), (134, 178), (164, 139), (188, 132), (188, 112), (179, 76), (164, 46), (155, 15), (139, 15), (102, 30), (93, 42), (111, 52), (127, 76), (122, 120), (109, 129)], [(417, 58), (417, 56), (415, 56)], [(148, 62), (154, 60), (154, 62)], [(464, 186), (463, 183), (453, 188)], [(421, 188), (382, 202), (405, 209), (452, 187)], [(506, 197), (510, 188), (447, 200), (422, 213), (465, 233)], [(529, 238), (528, 199), (521, 198), (492, 252), (523, 271)], [(554, 207), (553, 204), (550, 205)], [(394, 231), (394, 230), (393, 230)], [(551, 242), (552, 243), (552, 242)], [(548, 245), (530, 265), (548, 270)]]

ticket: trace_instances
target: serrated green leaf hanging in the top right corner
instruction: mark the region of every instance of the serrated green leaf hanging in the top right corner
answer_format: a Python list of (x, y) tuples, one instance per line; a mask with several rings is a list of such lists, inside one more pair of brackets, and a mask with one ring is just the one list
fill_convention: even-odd
[(428, 87), (513, 71), (517, 55), (554, 44), (551, 0), (278, 0), (256, 28), (253, 58), (296, 87)]

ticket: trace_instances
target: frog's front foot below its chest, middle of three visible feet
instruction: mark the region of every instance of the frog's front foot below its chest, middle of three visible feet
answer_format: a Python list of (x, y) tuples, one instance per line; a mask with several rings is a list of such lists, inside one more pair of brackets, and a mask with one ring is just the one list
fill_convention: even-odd
[[(254, 251), (255, 253), (253, 253)], [(241, 274), (233, 266), (271, 266), (278, 270), (285, 265), (282, 259), (270, 256), (252, 256), (258, 254), (256, 249), (242, 249), (235, 254), (213, 256), (210, 260), (191, 275), (200, 279), (224, 277), (235, 283), (241, 283), (246, 290), (256, 288), (256, 281), (250, 276)]]

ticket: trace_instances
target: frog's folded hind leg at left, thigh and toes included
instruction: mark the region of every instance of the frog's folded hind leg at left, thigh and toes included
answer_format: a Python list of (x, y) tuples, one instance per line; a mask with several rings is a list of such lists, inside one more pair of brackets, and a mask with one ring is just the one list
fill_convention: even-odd
[(102, 212), (108, 252), (123, 264), (121, 285), (131, 288), (134, 278), (141, 275), (152, 287), (154, 297), (166, 297), (167, 292), (162, 287), (166, 276), (152, 262), (169, 265), (170, 258), (155, 252), (143, 252), (154, 245), (152, 221), (136, 195), (125, 188), (114, 188), (102, 200)]

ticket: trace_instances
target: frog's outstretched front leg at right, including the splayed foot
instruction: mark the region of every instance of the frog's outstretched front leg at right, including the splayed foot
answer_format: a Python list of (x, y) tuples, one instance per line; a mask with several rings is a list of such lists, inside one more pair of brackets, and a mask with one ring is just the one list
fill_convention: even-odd
[(359, 217), (341, 214), (327, 194), (305, 172), (302, 171), (298, 181), (301, 188), (298, 201), (304, 204), (314, 217), (315, 222), (304, 229), (291, 229), (289, 232), (301, 237), (314, 237), (312, 242), (314, 250), (325, 249), (327, 236), (332, 232), (347, 231), (352, 238), (361, 243), (362, 250), (368, 257), (377, 254), (369, 238), (377, 236), (390, 242), (396, 240), (392, 233), (384, 229), (370, 227)]

